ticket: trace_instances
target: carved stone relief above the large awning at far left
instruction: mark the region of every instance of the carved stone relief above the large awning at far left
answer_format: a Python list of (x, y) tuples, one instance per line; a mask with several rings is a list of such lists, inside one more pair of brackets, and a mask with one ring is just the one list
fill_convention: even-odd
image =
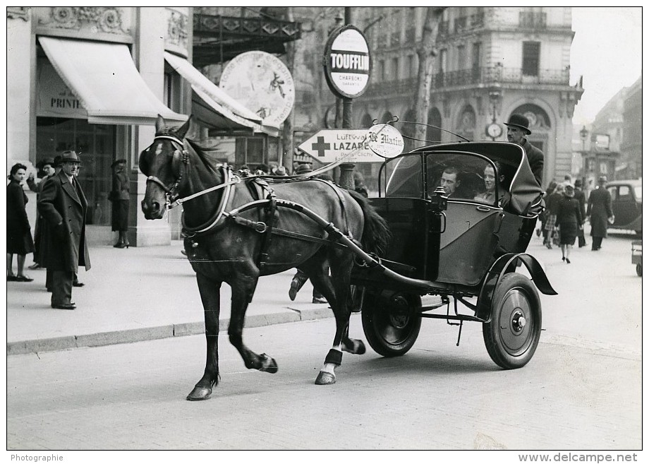
[(128, 33), (123, 29), (121, 8), (114, 6), (53, 6), (48, 20), (39, 24), (51, 28), (80, 30), (84, 25), (95, 32)]

